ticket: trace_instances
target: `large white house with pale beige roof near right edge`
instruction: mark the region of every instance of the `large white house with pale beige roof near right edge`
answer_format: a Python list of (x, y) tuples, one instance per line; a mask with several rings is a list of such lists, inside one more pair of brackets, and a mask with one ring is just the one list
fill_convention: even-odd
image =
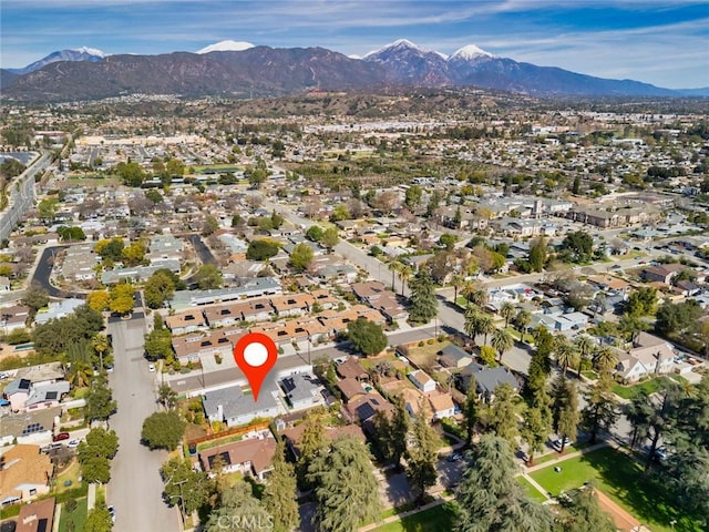
[(618, 355), (616, 374), (628, 381), (636, 381), (643, 377), (669, 374), (674, 367), (675, 351), (671, 344), (643, 331), (633, 349)]

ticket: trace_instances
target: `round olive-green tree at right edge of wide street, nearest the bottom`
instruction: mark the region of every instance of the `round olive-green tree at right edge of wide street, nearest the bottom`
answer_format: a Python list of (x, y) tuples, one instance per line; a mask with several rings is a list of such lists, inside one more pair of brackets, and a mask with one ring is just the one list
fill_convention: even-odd
[(212, 483), (207, 473), (195, 471), (189, 460), (171, 458), (160, 468), (160, 474), (165, 484), (163, 499), (168, 505), (179, 508), (183, 519), (209, 502)]

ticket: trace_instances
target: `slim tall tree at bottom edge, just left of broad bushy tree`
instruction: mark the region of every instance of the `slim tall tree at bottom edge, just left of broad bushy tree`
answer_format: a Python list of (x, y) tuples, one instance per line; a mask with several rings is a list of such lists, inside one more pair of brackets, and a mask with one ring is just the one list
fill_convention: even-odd
[(264, 508), (274, 516), (276, 532), (289, 532), (300, 524), (296, 472), (292, 464), (286, 461), (285, 451), (281, 441), (276, 447), (271, 460), (274, 470), (268, 477), (263, 498)]

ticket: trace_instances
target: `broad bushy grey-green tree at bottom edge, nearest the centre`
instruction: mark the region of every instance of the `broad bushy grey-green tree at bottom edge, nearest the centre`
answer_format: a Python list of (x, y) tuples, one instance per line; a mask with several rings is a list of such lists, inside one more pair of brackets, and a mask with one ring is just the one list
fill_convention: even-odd
[(320, 530), (352, 532), (379, 519), (379, 482), (367, 447), (353, 437), (335, 440), (308, 468), (315, 485), (316, 521)]

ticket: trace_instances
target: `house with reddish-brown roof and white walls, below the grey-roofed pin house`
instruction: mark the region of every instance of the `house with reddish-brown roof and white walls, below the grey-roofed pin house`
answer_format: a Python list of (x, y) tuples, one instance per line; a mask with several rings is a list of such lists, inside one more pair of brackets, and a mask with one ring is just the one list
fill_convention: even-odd
[(218, 444), (199, 452), (199, 463), (203, 471), (212, 472), (217, 457), (222, 459), (224, 472), (239, 472), (265, 480), (273, 471), (271, 461), (276, 454), (276, 440), (270, 436), (249, 438)]

